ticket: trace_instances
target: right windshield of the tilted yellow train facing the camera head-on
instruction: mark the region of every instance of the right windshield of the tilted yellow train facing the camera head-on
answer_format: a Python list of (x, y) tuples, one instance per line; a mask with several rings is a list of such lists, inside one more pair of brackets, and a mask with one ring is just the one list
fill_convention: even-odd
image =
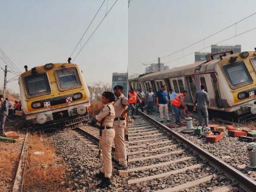
[(60, 89), (81, 87), (76, 68), (57, 69), (55, 71)]

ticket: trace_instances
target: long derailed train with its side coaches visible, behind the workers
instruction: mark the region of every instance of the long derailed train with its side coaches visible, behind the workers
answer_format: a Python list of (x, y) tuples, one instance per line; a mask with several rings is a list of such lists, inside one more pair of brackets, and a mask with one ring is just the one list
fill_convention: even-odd
[(154, 91), (166, 85), (176, 93), (188, 91), (185, 103), (194, 106), (194, 96), (200, 85), (210, 97), (211, 110), (228, 112), (231, 116), (256, 113), (256, 49), (233, 54), (233, 51), (207, 55), (207, 61), (147, 74), (129, 80), (129, 86)]

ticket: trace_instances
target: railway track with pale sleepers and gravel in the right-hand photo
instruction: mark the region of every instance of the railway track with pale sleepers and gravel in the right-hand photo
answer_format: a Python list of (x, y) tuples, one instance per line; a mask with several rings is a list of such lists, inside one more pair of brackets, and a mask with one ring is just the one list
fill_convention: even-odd
[(256, 182), (141, 113), (129, 125), (131, 188), (148, 191), (256, 191)]

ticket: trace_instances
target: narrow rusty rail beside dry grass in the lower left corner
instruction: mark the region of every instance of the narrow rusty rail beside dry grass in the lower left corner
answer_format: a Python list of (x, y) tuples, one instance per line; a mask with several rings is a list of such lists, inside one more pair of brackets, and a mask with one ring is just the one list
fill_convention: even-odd
[(13, 183), (12, 192), (22, 192), (24, 187), (24, 174), (27, 163), (27, 154), (29, 151), (29, 136), (30, 133), (26, 133), (26, 137), (24, 139), (23, 148), (21, 150), (20, 162), (18, 164), (18, 168), (15, 174), (15, 180)]

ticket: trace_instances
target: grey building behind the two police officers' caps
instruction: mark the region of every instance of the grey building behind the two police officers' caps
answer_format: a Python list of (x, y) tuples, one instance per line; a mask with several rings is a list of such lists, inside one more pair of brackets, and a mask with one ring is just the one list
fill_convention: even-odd
[(112, 76), (112, 89), (116, 85), (124, 87), (124, 95), (127, 97), (128, 94), (128, 73), (113, 73)]

